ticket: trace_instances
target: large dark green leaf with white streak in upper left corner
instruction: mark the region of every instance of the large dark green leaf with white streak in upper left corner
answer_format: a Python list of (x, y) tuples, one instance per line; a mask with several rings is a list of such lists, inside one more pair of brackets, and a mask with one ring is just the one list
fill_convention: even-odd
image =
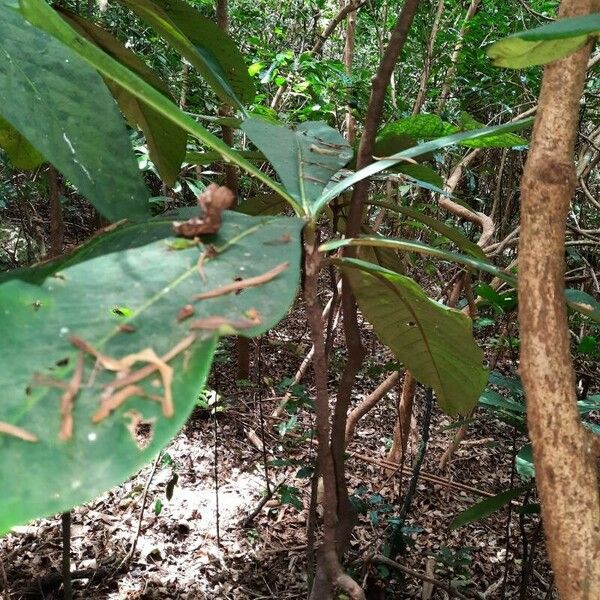
[(0, 53), (0, 114), (107, 218), (145, 217), (148, 193), (100, 76), (10, 0), (0, 0)]

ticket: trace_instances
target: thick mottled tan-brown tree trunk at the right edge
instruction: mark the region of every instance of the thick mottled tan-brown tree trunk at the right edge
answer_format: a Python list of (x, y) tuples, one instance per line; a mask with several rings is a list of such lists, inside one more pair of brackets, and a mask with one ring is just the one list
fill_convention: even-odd
[[(560, 16), (594, 10), (600, 10), (597, 0), (566, 0)], [(577, 410), (563, 292), (565, 221), (589, 55), (590, 45), (544, 69), (521, 186), (520, 369), (544, 531), (563, 600), (600, 598), (597, 456)]]

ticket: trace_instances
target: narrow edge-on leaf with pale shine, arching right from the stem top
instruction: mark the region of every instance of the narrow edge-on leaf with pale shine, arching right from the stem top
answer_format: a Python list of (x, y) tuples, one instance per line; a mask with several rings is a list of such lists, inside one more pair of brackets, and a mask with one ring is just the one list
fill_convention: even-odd
[(378, 160), (366, 166), (364, 169), (357, 171), (353, 175), (342, 179), (342, 181), (340, 181), (339, 183), (329, 187), (327, 191), (315, 203), (313, 213), (318, 214), (321, 210), (323, 210), (323, 208), (327, 205), (327, 203), (330, 200), (333, 200), (333, 198), (337, 198), (337, 196), (339, 196), (342, 192), (346, 191), (349, 187), (352, 187), (355, 183), (358, 183), (363, 179), (367, 179), (368, 177), (372, 177), (377, 173), (381, 173), (381, 171), (385, 171), (386, 169), (393, 167), (394, 165), (398, 164), (401, 161), (404, 161), (407, 158), (416, 158), (418, 156), (423, 156), (428, 152), (441, 150), (442, 148), (446, 148), (447, 146), (460, 144), (467, 140), (474, 140), (492, 134), (519, 131), (521, 129), (524, 129), (525, 127), (529, 127), (532, 123), (533, 119), (530, 118), (523, 119), (521, 121), (516, 121), (514, 123), (507, 123), (505, 125), (497, 125), (495, 127), (485, 127), (483, 129), (475, 129), (474, 131), (455, 133), (452, 135), (437, 138), (435, 140), (431, 140), (429, 142), (425, 142), (424, 144), (419, 144), (418, 146), (414, 146), (412, 148), (408, 148), (406, 150), (403, 150), (402, 152), (399, 152), (398, 154), (394, 154), (388, 159)]

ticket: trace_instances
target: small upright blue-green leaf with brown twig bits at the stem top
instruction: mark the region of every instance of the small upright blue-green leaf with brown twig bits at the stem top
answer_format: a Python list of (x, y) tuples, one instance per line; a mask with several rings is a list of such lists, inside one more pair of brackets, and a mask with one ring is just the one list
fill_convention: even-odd
[(249, 118), (242, 130), (269, 159), (285, 189), (314, 214), (314, 203), (331, 178), (352, 158), (352, 149), (339, 131), (308, 121), (290, 129)]

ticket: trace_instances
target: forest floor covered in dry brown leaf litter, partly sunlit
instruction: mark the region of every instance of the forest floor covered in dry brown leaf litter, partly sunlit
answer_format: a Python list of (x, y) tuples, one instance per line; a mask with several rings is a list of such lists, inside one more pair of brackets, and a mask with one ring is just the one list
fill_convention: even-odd
[[(357, 400), (385, 377), (385, 366), (392, 360), (370, 339), (368, 329), (366, 333), (370, 353), (361, 371)], [(149, 466), (95, 502), (73, 511), (72, 569), (87, 570), (83, 574), (88, 577), (75, 580), (75, 598), (306, 597), (310, 477), (298, 477), (298, 472), (302, 475), (303, 465), (310, 465), (314, 458), (314, 446), (306, 439), (308, 436), (302, 436), (310, 431), (313, 413), (301, 410), (297, 424), (283, 436), (274, 426), (281, 421), (274, 424), (268, 418), (277, 406), (276, 397), (281, 395), (277, 383), (293, 376), (309, 349), (301, 310), (296, 308), (276, 330), (251, 345), (253, 381), (260, 385), (239, 385), (233, 379), (235, 342), (226, 340), (210, 382), (219, 390), (223, 407), (216, 422), (208, 410), (197, 408), (184, 430), (165, 449), (152, 477), (153, 468)], [(343, 356), (334, 351), (331, 361), (334, 390)], [(256, 372), (258, 362), (260, 373)], [(303, 383), (310, 396), (310, 373)], [(419, 577), (365, 562), (382, 551), (389, 519), (398, 513), (410, 479), (410, 470), (408, 474), (390, 476), (376, 464), (387, 452), (396, 399), (393, 391), (365, 416), (349, 446), (350, 493), (362, 498), (366, 514), (359, 515), (346, 566), (366, 582), (371, 600), (448, 598), (439, 587), (428, 589)], [(417, 439), (423, 402), (424, 395), (419, 391), (414, 427)], [(460, 446), (449, 468), (442, 471), (438, 463), (454, 431), (448, 427), (450, 424), (450, 418), (434, 404), (430, 441), (406, 522), (410, 543), (397, 561), (421, 574), (428, 570), (446, 585), (458, 585), (456, 589), (466, 598), (552, 598), (552, 578), (537, 515), (519, 518), (514, 509), (509, 513), (504, 508), (466, 527), (449, 528), (458, 512), (482, 498), (475, 492), (456, 489), (454, 484), (488, 493), (512, 487), (511, 479), (513, 486), (520, 485), (512, 465), (514, 449), (524, 439), (515, 439), (512, 428), (479, 411), (468, 441)], [(264, 453), (257, 442), (261, 429)], [(411, 445), (414, 454), (414, 441)], [(287, 487), (279, 488), (253, 521), (242, 527), (241, 521), (264, 495), (265, 458), (271, 488), (279, 482)], [(295, 459), (294, 464), (282, 463), (284, 458)], [(283, 466), (273, 466), (272, 461)], [(178, 480), (172, 497), (167, 499), (174, 473)], [(136, 536), (146, 486), (147, 502), (136, 550), (131, 562), (119, 569)], [(10, 590), (5, 598), (62, 598), (56, 577), (61, 567), (60, 517), (15, 528), (2, 540), (0, 552)]]

